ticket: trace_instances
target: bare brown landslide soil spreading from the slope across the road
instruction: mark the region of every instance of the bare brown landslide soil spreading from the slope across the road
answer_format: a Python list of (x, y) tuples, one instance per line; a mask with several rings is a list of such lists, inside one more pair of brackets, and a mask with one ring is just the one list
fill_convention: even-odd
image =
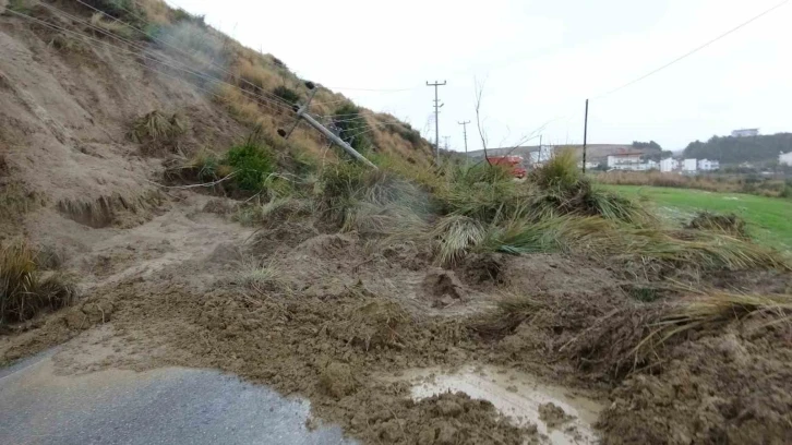
[[(657, 275), (561, 254), (443, 269), (425, 246), (379, 245), (299, 212), (242, 227), (237, 202), (158, 184), (163, 158), (125, 137), (133, 119), (177, 106), (192, 122), (185, 151), (230, 146), (241, 125), (189, 84), (109, 51), (55, 50), (52, 37), (0, 16), (0, 241), (57, 252), (83, 298), (0, 333), (0, 363), (65, 344), (60, 372), (219, 369), (308, 397), (317, 422), (364, 443), (540, 441), (489, 402), (415, 401), (407, 383), (376, 378), (491, 363), (607, 399), (604, 443), (790, 442), (788, 324), (735, 321), (637, 357), (663, 304), (687, 298)], [(254, 266), (275, 274), (251, 280)], [(790, 274), (674, 277), (792, 289)], [(504, 293), (535, 304), (496, 334), (471, 329)]]

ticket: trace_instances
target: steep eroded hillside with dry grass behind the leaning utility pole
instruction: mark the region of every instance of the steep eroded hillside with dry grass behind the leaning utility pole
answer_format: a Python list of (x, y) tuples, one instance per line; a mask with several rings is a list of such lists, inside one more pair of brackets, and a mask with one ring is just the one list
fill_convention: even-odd
[[(283, 61), (160, 0), (13, 0), (0, 29), (0, 192), (13, 204), (9, 214), (45, 208), (92, 227), (139, 222), (160, 200), (155, 183), (166, 165), (223, 154), (254, 125), (283, 159), (340, 153), (307, 124), (288, 142), (278, 136), (295, 121), (291, 105), (308, 95)], [(178, 144), (130, 137), (153, 111), (178, 117)], [(319, 87), (311, 112), (343, 121), (372, 153), (416, 161), (430, 153), (409, 125), (327, 88)]]

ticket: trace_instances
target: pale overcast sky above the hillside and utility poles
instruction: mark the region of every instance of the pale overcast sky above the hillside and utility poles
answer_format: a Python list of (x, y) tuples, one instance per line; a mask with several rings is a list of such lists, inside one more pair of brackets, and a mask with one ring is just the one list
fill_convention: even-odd
[[(655, 140), (682, 149), (739, 128), (792, 131), (792, 3), (696, 55), (593, 99), (682, 56), (781, 0), (176, 0), (303, 79), (387, 111), (464, 149), (476, 133), (475, 79), (485, 81), (489, 145), (514, 144), (551, 121), (545, 143)], [(367, 92), (348, 88), (406, 89)], [(538, 140), (531, 141), (531, 144)]]

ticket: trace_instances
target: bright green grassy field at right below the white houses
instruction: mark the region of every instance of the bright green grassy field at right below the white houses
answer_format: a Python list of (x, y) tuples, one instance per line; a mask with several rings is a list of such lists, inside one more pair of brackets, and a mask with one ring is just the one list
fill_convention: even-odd
[(763, 244), (792, 250), (792, 201), (740, 193), (640, 185), (602, 185), (643, 203), (674, 224), (689, 221), (700, 211), (734, 213), (748, 224), (751, 236)]

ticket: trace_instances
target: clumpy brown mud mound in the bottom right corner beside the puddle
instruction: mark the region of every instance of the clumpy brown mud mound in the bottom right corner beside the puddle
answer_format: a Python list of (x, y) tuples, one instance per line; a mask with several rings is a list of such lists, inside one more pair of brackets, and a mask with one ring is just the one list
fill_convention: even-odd
[(792, 329), (733, 326), (676, 346), (657, 375), (614, 390), (599, 426), (615, 444), (782, 444), (792, 437)]

